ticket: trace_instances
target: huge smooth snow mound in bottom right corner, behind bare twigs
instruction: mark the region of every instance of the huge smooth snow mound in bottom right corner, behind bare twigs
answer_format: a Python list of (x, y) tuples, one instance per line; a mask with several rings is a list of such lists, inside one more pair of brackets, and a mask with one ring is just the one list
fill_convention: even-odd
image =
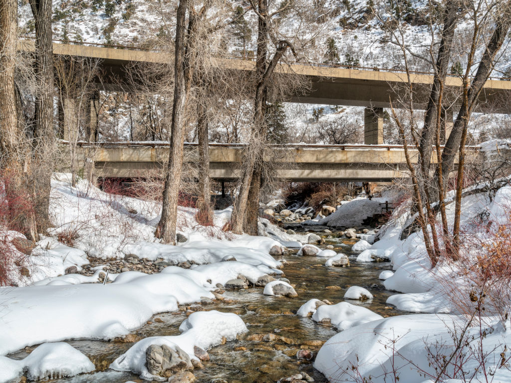
[[(370, 376), (370, 381), (375, 383), (388, 381), (388, 373), (393, 369), (399, 381), (423, 382), (426, 379), (424, 373), (417, 371), (411, 362), (426, 373), (436, 376), (425, 342), (443, 345), (438, 352), (449, 355), (453, 348), (451, 334), (455, 325), (458, 329), (462, 326), (459, 317), (445, 314), (397, 316), (361, 324), (328, 340), (319, 350), (314, 367), (330, 381), (336, 382), (355, 380), (350, 375), (354, 373), (352, 366), (360, 373), (360, 379), (369, 380)], [(475, 336), (471, 347), (478, 347), (477, 331), (477, 328), (469, 330), (468, 339)], [(488, 353), (486, 368), (496, 370), (495, 376), (492, 376), (494, 381), (510, 382), (509, 371), (506, 368), (499, 369), (499, 354), (504, 345), (511, 341), (511, 332), (498, 325), (487, 329), (487, 332), (489, 335), (482, 341), (483, 352)], [(393, 349), (396, 351), (392, 352)], [(432, 350), (435, 351), (434, 347)], [(463, 362), (463, 371), (480, 371), (480, 363), (476, 358), (466, 357)], [(477, 376), (484, 380), (482, 375)]]

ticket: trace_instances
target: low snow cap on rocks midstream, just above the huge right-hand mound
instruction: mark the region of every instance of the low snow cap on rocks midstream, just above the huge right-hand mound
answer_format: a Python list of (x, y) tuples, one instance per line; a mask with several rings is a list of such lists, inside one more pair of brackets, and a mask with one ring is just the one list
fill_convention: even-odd
[(316, 322), (330, 319), (332, 325), (338, 330), (345, 330), (361, 323), (382, 318), (381, 315), (373, 313), (368, 308), (356, 306), (348, 302), (340, 302), (334, 305), (323, 304), (316, 309), (312, 316), (312, 320)]

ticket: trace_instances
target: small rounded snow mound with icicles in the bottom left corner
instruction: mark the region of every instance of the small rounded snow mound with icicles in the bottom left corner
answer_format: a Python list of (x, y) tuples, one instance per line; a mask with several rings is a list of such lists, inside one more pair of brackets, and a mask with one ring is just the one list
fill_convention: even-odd
[(43, 343), (25, 359), (0, 356), (0, 381), (19, 379), (27, 372), (30, 380), (58, 379), (96, 370), (94, 363), (67, 343)]

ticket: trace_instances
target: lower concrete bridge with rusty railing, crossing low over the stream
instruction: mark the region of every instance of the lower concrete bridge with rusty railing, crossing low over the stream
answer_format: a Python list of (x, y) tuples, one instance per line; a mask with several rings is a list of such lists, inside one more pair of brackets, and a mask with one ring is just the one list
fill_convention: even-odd
[[(243, 145), (210, 144), (210, 176), (215, 180), (236, 180), (241, 175), (243, 150)], [(78, 147), (81, 164), (86, 152), (94, 156), (96, 177), (161, 177), (169, 145), (82, 143)], [(185, 144), (185, 152), (191, 160), (198, 158), (197, 144)], [(416, 161), (417, 152), (410, 152)], [(276, 162), (278, 177), (296, 182), (386, 182), (408, 177), (403, 147), (397, 145), (275, 146), (267, 151), (266, 159)], [(433, 163), (435, 159), (432, 156)]]

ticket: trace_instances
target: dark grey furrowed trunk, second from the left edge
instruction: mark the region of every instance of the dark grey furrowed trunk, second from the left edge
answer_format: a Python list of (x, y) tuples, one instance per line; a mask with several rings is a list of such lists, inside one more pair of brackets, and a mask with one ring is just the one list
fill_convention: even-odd
[[(34, 199), (37, 228), (45, 232), (50, 226), (49, 206), (52, 151), (55, 144), (53, 131), (53, 47), (52, 0), (30, 0), (35, 21), (35, 98), (34, 160), (37, 174), (34, 177)], [(34, 167), (35, 169), (35, 167)]]

